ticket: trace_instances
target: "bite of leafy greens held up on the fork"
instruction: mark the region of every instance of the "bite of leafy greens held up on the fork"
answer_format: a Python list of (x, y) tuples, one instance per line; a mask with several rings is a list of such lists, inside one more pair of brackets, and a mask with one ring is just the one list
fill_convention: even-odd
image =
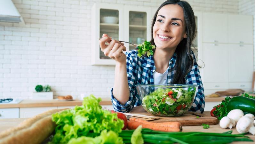
[(156, 48), (155, 45), (151, 45), (150, 42), (144, 41), (143, 44), (139, 44), (137, 47), (138, 56), (142, 57), (143, 55), (153, 55), (153, 49)]

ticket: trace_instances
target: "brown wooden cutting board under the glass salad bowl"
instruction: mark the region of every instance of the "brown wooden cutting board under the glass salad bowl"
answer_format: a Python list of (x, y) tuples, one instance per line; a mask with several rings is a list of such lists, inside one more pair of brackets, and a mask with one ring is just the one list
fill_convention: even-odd
[[(133, 112), (132, 114), (153, 116), (147, 112)], [(182, 116), (176, 116), (176, 117), (163, 117), (163, 116), (155, 116), (155, 117), (161, 118), (161, 119), (151, 120), (150, 122), (155, 122), (155, 123), (180, 122), (182, 126), (202, 125), (202, 124), (209, 124), (209, 125), (219, 124), (219, 120), (216, 117), (212, 117), (212, 116), (206, 115), (206, 114), (195, 113), (195, 112), (187, 112)]]

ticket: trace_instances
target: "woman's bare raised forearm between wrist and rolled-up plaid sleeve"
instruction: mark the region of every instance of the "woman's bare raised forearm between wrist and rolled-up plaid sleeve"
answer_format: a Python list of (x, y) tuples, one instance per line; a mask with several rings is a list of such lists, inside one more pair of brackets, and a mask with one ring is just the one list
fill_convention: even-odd
[(126, 61), (124, 63), (116, 62), (113, 95), (122, 105), (129, 100), (130, 91), (127, 78)]

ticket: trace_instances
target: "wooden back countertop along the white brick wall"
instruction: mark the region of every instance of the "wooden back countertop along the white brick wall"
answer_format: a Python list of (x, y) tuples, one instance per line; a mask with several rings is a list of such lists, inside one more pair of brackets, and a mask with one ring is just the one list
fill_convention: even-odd
[[(100, 105), (112, 105), (110, 98), (101, 98)], [(205, 97), (205, 102), (221, 102), (225, 97), (208, 98)], [(33, 107), (58, 107), (58, 106), (76, 106), (82, 105), (82, 100), (59, 101), (54, 100), (22, 100), (18, 104), (0, 104), (0, 108), (33, 108)]]

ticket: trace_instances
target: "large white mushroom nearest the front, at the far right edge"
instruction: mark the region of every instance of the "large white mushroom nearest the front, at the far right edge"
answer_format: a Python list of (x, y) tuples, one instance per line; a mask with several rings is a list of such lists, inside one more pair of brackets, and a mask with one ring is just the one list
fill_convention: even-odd
[(255, 135), (253, 119), (248, 116), (241, 117), (236, 124), (236, 130), (239, 133), (250, 132), (252, 135)]

